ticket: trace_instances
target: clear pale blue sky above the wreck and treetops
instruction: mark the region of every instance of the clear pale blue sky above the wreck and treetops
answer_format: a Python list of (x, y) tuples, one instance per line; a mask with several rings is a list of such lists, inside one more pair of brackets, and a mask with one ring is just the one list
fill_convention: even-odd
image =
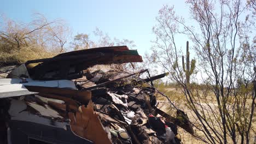
[[(61, 18), (71, 27), (73, 35), (92, 34), (96, 27), (111, 38), (135, 41), (136, 49), (143, 55), (149, 51), (154, 39), (152, 27), (158, 10), (164, 4), (175, 5), (177, 14), (188, 15), (184, 1), (33, 1), (5, 0), (1, 2), (0, 14), (19, 21), (30, 22), (33, 13), (41, 13), (50, 20)], [(184, 44), (187, 39), (182, 39)], [(183, 46), (180, 44), (181, 46)]]

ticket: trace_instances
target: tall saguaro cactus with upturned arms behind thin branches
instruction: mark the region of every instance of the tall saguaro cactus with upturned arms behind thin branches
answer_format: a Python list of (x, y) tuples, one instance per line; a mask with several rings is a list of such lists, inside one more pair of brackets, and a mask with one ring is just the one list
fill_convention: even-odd
[(187, 83), (190, 82), (190, 75), (193, 74), (195, 69), (195, 59), (191, 60), (191, 64), (189, 62), (189, 42), (187, 41), (187, 56), (186, 56), (186, 68), (184, 63), (184, 56), (182, 56), (182, 67), (183, 71), (186, 74), (186, 81)]

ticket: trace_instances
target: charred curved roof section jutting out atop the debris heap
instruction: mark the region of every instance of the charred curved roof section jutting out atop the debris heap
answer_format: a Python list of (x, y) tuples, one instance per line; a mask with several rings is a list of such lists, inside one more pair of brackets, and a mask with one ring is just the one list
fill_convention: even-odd
[(137, 50), (127, 50), (127, 46), (112, 46), (62, 53), (53, 58), (27, 61), (26, 65), (40, 63), (28, 69), (32, 79), (71, 80), (82, 77), (83, 70), (96, 64), (129, 62), (142, 62)]

